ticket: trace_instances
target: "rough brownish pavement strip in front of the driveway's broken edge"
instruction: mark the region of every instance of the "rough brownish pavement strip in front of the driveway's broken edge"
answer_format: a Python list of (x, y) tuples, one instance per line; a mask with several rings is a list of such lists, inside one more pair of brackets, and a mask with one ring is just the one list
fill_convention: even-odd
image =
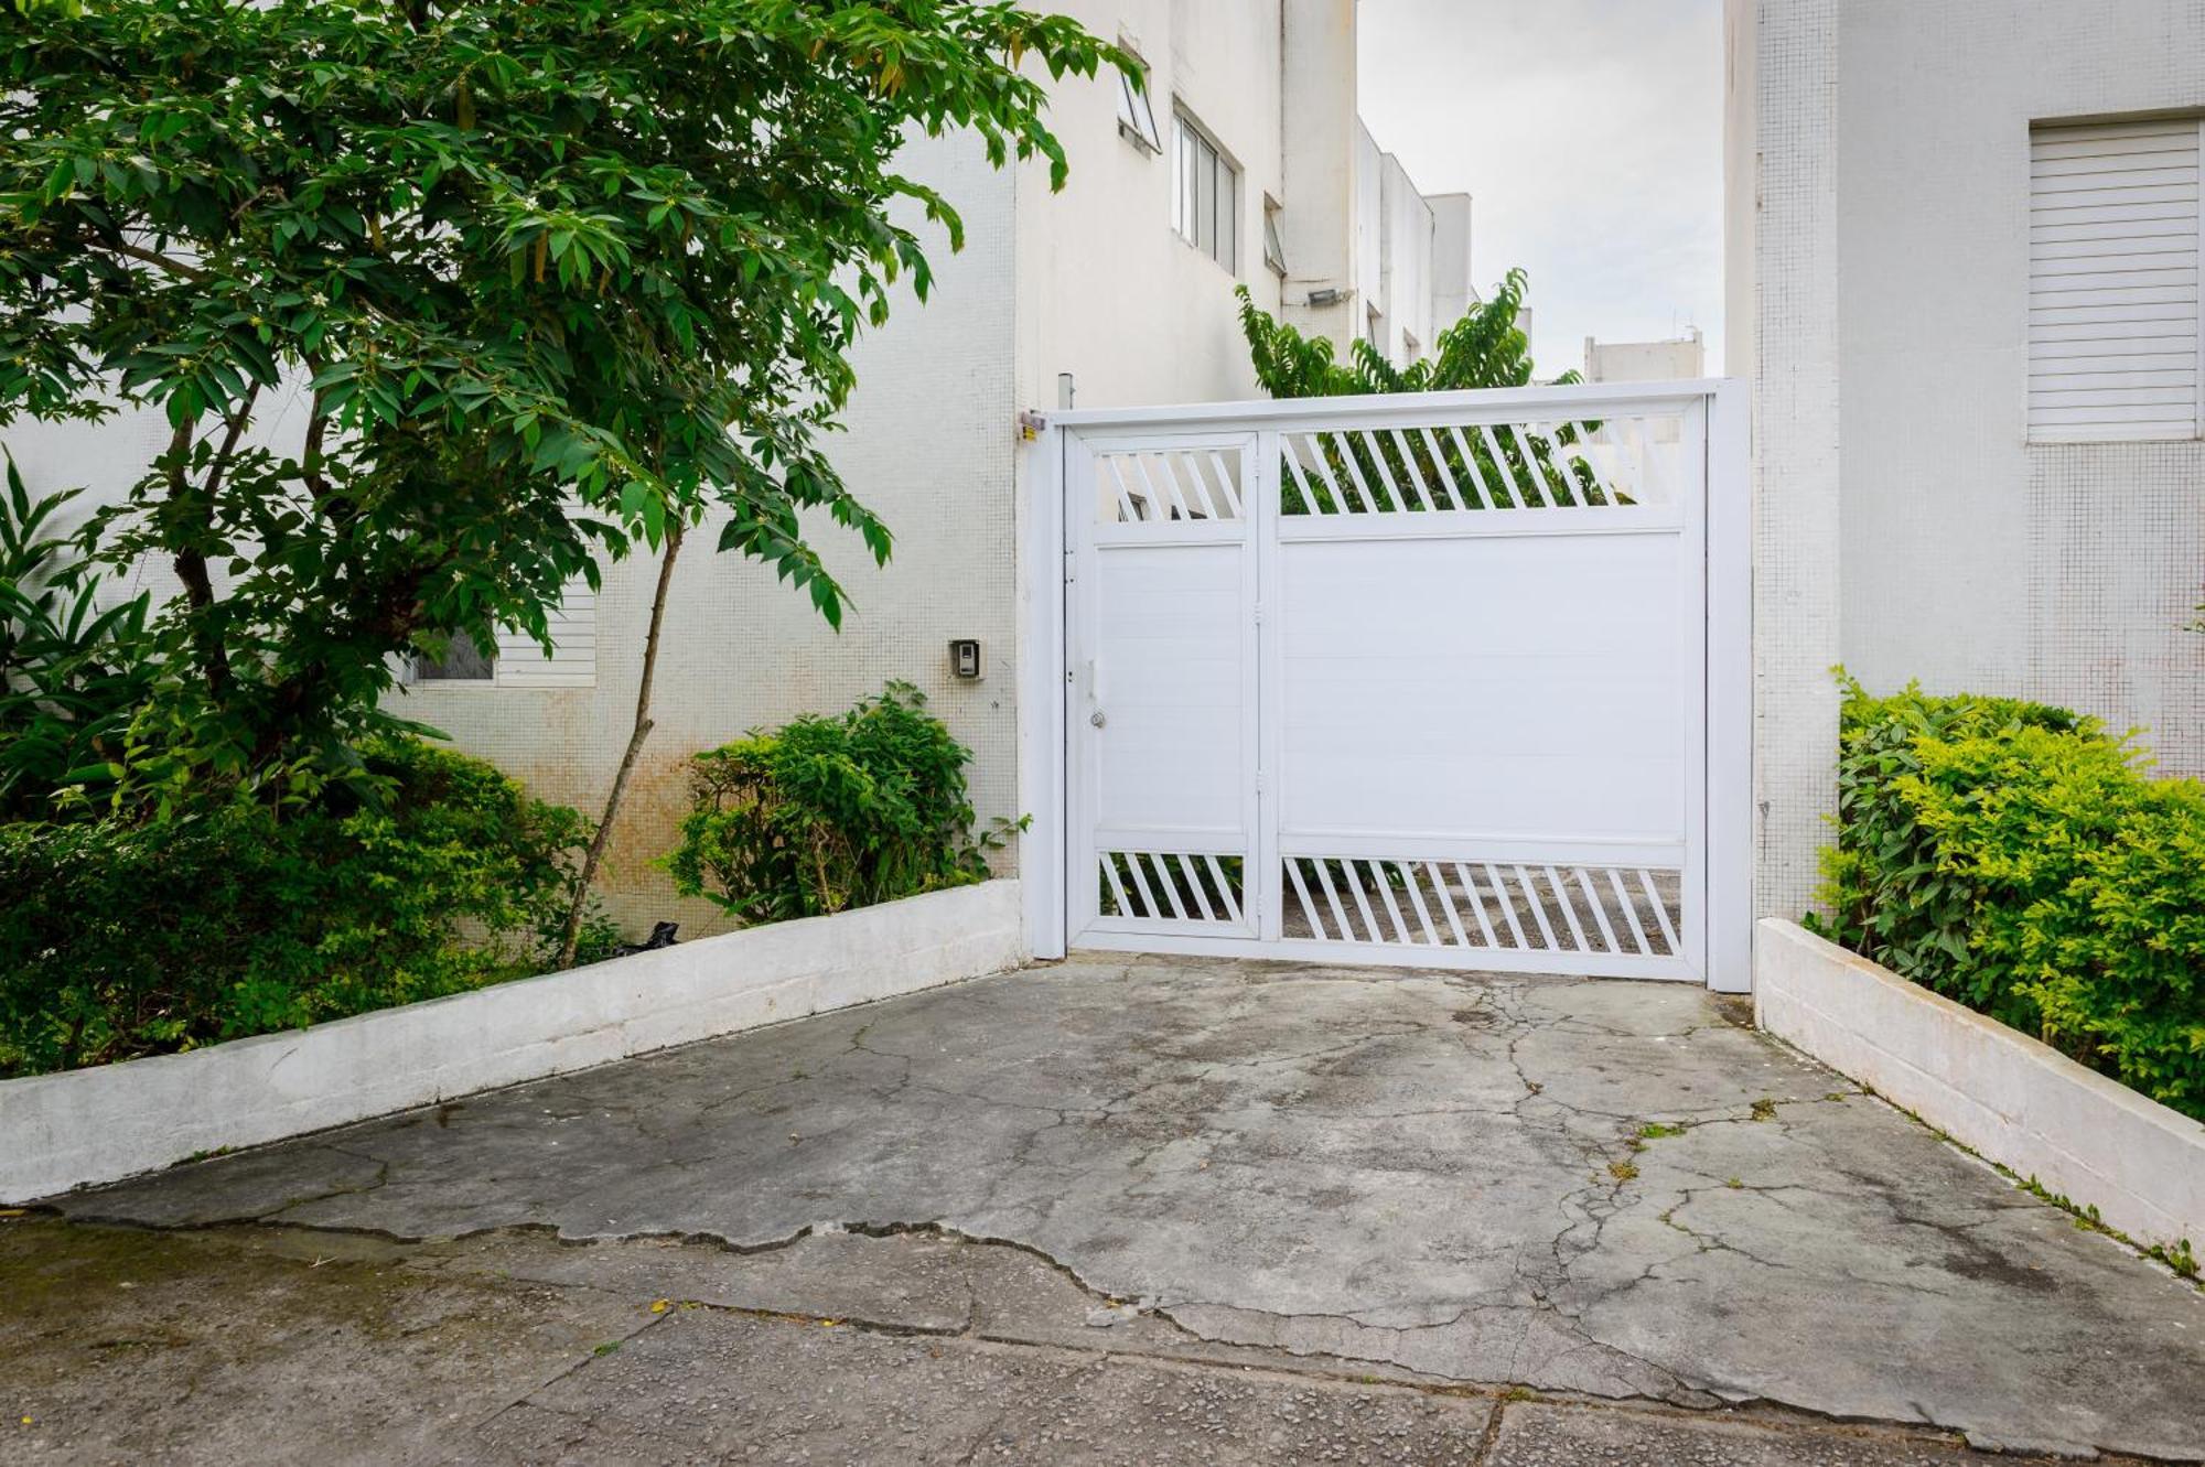
[[(966, 1326), (948, 1328), (959, 1295)], [(1958, 1452), (1921, 1432), (1537, 1401), (1217, 1346), (1138, 1306), (1098, 1324), (1116, 1306), (1056, 1264), (933, 1231), (745, 1253), (0, 1216), (0, 1441), (24, 1463), (1299, 1467), (1506, 1449), (1927, 1467)], [(840, 1313), (811, 1313), (822, 1302)]]

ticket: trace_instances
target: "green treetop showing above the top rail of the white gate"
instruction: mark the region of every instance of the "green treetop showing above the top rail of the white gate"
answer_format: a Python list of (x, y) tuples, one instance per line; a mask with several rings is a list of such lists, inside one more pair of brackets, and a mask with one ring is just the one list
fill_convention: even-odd
[[(1272, 396), (1360, 396), (1365, 392), (1462, 392), (1471, 388), (1528, 388), (1532, 379), (1530, 337), (1517, 326), (1530, 278), (1521, 269), (1493, 289), (1488, 300), (1440, 333), (1431, 355), (1394, 366), (1369, 341), (1356, 337), (1341, 361), (1327, 337), (1305, 337), (1257, 308), (1248, 286), (1237, 286), (1241, 335), (1255, 379)], [(1555, 381), (1579, 381), (1563, 372)]]

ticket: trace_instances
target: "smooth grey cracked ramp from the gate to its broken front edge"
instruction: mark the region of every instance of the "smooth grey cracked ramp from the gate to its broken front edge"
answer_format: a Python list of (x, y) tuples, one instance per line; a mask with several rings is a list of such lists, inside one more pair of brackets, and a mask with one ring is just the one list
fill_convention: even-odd
[[(55, 1205), (767, 1251), (917, 1225), (1158, 1346), (2205, 1456), (2205, 1295), (1682, 985), (1074, 960)], [(955, 1291), (906, 1282), (948, 1328)]]

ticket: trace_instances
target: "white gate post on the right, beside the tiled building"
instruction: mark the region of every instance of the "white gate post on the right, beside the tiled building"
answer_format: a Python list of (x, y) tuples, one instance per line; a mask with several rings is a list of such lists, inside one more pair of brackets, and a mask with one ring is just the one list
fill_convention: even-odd
[(1746, 383), (1707, 401), (1707, 987), (1753, 991), (1753, 474)]

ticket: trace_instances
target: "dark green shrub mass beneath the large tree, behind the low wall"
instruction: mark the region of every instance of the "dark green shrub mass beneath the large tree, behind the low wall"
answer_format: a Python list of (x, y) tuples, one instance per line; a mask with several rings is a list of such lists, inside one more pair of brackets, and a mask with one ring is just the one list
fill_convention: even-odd
[(386, 1009), (542, 967), (589, 824), (417, 740), (381, 802), (0, 826), (0, 1075)]

